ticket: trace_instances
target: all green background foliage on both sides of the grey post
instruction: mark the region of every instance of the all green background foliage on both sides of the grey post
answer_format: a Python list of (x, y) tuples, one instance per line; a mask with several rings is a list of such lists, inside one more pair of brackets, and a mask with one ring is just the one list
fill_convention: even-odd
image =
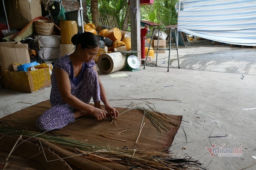
[[(175, 3), (178, 0), (154, 0), (153, 5), (140, 6), (140, 18), (146, 21), (152, 21), (162, 24), (163, 26), (176, 25), (177, 13), (175, 11)], [(89, 22), (91, 21), (91, 1), (86, 0), (87, 15)], [(119, 28), (122, 28), (125, 17), (128, 0), (99, 0), (99, 12), (102, 16), (108, 14), (116, 17)]]

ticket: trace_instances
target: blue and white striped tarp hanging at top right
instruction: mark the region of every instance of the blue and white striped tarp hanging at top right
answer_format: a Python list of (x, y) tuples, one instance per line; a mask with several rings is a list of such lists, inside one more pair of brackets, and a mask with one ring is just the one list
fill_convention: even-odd
[(179, 2), (178, 31), (229, 44), (256, 45), (256, 0)]

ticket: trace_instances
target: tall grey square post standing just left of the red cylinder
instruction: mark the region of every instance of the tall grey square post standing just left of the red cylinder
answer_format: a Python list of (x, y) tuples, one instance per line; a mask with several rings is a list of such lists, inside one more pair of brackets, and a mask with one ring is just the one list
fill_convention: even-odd
[(140, 1), (130, 0), (131, 16), (131, 50), (139, 51), (137, 57), (141, 63), (141, 46), (140, 46)]

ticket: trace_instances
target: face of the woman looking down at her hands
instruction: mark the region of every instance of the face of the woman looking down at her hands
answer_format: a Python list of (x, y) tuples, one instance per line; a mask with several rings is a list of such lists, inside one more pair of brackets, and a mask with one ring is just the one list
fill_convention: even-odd
[(82, 62), (84, 63), (88, 63), (91, 60), (93, 60), (96, 56), (96, 54), (98, 54), (99, 51), (99, 47), (94, 47), (94, 48), (80, 48), (81, 50), (79, 51), (81, 53), (80, 59)]

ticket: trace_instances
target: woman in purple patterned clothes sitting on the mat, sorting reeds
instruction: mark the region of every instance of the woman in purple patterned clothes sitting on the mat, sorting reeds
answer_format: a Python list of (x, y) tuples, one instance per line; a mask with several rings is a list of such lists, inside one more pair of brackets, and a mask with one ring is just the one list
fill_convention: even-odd
[[(61, 129), (76, 118), (94, 116), (103, 120), (106, 114), (116, 118), (118, 111), (112, 107), (99, 79), (94, 57), (99, 50), (99, 38), (90, 32), (78, 32), (71, 39), (76, 50), (56, 60), (52, 71), (50, 104), (35, 122), (41, 131)], [(88, 103), (93, 98), (94, 107)], [(101, 109), (100, 101), (106, 111)]]

